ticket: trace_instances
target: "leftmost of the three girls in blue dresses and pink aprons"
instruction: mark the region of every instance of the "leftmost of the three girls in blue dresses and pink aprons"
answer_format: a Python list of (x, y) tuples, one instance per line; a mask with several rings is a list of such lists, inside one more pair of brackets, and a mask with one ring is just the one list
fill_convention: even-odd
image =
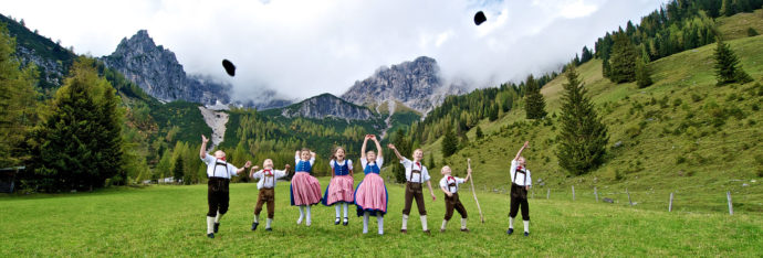
[(302, 149), (302, 151), (296, 151), (294, 154), (294, 162), (296, 163), (294, 168), (295, 173), (294, 178), (292, 178), (292, 186), (290, 189), (292, 206), (300, 206), (300, 218), (296, 219), (296, 224), (302, 224), (306, 211), (307, 221), (305, 225), (310, 226), (312, 224), (310, 205), (315, 205), (321, 202), (321, 183), (311, 175), (313, 164), (315, 163), (315, 152), (306, 148)]

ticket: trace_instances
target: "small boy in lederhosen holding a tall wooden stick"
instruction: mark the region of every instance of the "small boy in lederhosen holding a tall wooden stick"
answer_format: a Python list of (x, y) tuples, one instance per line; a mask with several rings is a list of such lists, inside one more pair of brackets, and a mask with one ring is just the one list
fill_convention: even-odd
[(461, 201), (458, 198), (458, 189), (459, 184), (469, 181), (471, 178), (471, 169), (467, 169), (466, 179), (459, 179), (450, 175), (451, 170), (450, 166), (447, 165), (442, 166), (440, 173), (445, 175), (445, 178), (440, 180), (440, 190), (442, 190), (442, 192), (446, 194), (446, 217), (442, 219), (440, 232), (445, 232), (448, 221), (453, 217), (453, 208), (461, 214), (461, 232), (469, 232), (469, 228), (467, 228), (467, 209), (463, 208), (463, 204), (461, 204)]

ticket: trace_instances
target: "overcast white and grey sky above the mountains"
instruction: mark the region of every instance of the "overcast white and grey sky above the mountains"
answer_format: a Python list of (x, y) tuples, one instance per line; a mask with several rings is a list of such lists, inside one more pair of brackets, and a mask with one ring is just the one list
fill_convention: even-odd
[[(1, 0), (0, 13), (74, 46), (111, 54), (146, 29), (188, 73), (289, 98), (341, 95), (380, 66), (426, 55), (469, 87), (556, 69), (594, 41), (665, 0)], [(488, 21), (474, 25), (482, 10)], [(222, 58), (237, 66), (228, 77)]]

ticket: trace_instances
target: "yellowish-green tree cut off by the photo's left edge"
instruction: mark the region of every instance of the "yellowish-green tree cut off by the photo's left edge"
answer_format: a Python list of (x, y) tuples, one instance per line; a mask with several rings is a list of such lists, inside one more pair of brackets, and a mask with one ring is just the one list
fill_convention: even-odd
[(34, 125), (36, 66), (21, 68), (15, 40), (0, 23), (0, 168), (22, 165), (28, 153), (21, 144)]

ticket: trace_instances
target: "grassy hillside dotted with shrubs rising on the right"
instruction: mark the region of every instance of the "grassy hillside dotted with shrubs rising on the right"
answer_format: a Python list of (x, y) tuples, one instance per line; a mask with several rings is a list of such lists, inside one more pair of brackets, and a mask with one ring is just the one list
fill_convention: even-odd
[[(732, 19), (749, 19), (749, 15)], [(727, 24), (732, 22), (727, 20)], [(729, 43), (740, 56), (744, 69), (761, 82), (763, 36)], [(756, 175), (763, 161), (755, 158), (763, 153), (763, 149), (752, 140), (763, 138), (760, 123), (763, 116), (753, 109), (763, 101), (751, 89), (754, 84), (715, 86), (712, 68), (714, 49), (712, 44), (654, 62), (650, 68), (656, 84), (645, 89), (633, 83), (615, 85), (603, 78), (598, 60), (582, 65), (578, 72), (609, 128), (612, 154), (605, 165), (587, 175), (568, 178), (558, 168), (554, 142), (558, 127), (556, 120), (552, 119), (551, 125), (540, 122), (535, 126), (524, 119), (521, 107), (495, 122), (482, 121), (480, 127), (489, 137), (472, 142), (446, 163), (462, 171), (466, 158), (472, 158), (478, 171), (475, 182), (501, 191), (509, 183), (505, 173), (509, 160), (523, 140), (530, 140), (533, 148), (525, 153), (530, 169), (534, 179), (542, 179), (545, 184), (541, 186), (534, 182), (536, 191), (545, 193), (545, 187), (550, 187), (557, 193), (571, 194), (571, 186), (575, 185), (579, 195), (582, 192), (593, 194), (593, 187), (597, 186), (599, 192), (619, 195), (619, 201), (623, 201), (621, 193), (629, 189), (638, 205), (660, 209), (666, 207), (669, 193), (676, 192), (677, 202), (681, 202), (678, 208), (688, 212), (727, 211), (724, 193), (731, 191), (738, 211), (763, 212), (763, 185), (760, 182), (763, 179)], [(566, 77), (560, 76), (542, 89), (550, 114), (558, 112), (563, 83), (566, 83)], [(699, 96), (699, 100), (694, 101), (692, 94)], [(658, 101), (651, 104), (652, 98)], [(665, 107), (659, 101), (663, 98), (668, 100)], [(673, 106), (677, 99), (682, 104)], [(736, 107), (744, 115), (741, 118), (729, 117), (723, 126), (713, 127), (707, 122), (712, 118), (712, 111), (705, 106), (711, 103)], [(633, 108), (638, 105), (644, 107)], [(630, 114), (631, 109), (634, 114)], [(689, 114), (694, 118), (687, 119)], [(681, 122), (689, 121), (698, 123), (691, 132), (673, 132)], [(638, 133), (634, 136), (634, 131)], [(469, 137), (474, 139), (473, 130)], [(618, 141), (624, 147), (613, 148)], [(436, 163), (441, 165), (440, 141), (426, 146), (425, 151), (433, 151)], [(616, 179), (618, 172), (624, 179)]]

